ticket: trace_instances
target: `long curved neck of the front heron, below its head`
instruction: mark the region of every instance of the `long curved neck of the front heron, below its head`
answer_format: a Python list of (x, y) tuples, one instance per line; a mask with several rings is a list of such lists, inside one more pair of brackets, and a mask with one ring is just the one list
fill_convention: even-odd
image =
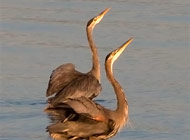
[(105, 69), (106, 69), (106, 74), (107, 78), (112, 84), (116, 97), (117, 97), (117, 108), (115, 112), (117, 114), (126, 114), (126, 111), (128, 111), (128, 102), (125, 98), (124, 91), (119, 84), (119, 82), (114, 78), (113, 71), (112, 71), (112, 63), (111, 62), (106, 62), (105, 64)]

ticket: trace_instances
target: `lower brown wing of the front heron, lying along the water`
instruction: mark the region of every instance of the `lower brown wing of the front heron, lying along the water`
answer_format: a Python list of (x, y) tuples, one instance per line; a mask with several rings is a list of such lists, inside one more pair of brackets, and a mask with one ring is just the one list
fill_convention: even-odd
[(109, 132), (105, 122), (93, 120), (57, 122), (47, 127), (52, 137), (59, 138), (88, 138), (93, 135), (101, 135)]

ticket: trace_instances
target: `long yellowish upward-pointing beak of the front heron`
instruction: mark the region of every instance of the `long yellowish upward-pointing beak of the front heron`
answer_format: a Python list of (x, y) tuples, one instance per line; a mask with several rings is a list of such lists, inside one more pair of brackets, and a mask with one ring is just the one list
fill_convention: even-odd
[(122, 52), (129, 46), (129, 44), (133, 41), (133, 38), (131, 37), (128, 41), (126, 41), (123, 45), (121, 45), (119, 48), (117, 48), (115, 51), (113, 51), (113, 61), (117, 60), (117, 58), (122, 54)]

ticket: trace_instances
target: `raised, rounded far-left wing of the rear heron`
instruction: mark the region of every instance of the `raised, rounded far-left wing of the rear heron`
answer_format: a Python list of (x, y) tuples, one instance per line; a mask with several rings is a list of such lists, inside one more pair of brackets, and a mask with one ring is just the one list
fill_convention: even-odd
[(71, 82), (77, 74), (79, 74), (79, 72), (75, 70), (75, 66), (71, 63), (63, 64), (57, 67), (53, 70), (50, 76), (46, 96), (48, 97), (58, 93), (69, 82)]

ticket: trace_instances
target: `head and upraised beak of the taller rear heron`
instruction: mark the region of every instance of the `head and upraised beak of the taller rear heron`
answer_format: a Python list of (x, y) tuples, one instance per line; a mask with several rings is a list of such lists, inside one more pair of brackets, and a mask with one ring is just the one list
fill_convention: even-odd
[(92, 18), (91, 20), (88, 21), (87, 23), (87, 27), (88, 28), (94, 28), (96, 24), (98, 24), (102, 18), (104, 17), (104, 15), (110, 10), (111, 8), (106, 8), (104, 11), (102, 11), (99, 15), (95, 16), (94, 18)]

